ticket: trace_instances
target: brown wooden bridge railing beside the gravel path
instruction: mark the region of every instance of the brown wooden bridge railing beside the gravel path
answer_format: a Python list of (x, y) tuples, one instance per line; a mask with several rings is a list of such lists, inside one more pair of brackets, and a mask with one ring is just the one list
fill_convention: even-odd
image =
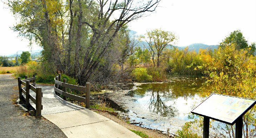
[[(32, 81), (33, 83), (30, 83)], [(21, 87), (21, 85), (25, 87)], [(35, 87), (35, 75), (33, 75), (32, 78), (28, 78), (28, 76), (25, 76), (25, 79), (21, 80), (20, 77), (18, 77), (18, 86), (19, 86), (19, 97), (22, 99), (24, 93), (26, 95), (26, 106), (29, 106), (29, 99), (35, 103), (36, 105), (36, 116), (41, 116), (41, 110), (43, 109), (42, 106), (42, 88), (41, 87)], [(32, 90), (36, 93), (35, 98), (29, 94), (29, 90)]]

